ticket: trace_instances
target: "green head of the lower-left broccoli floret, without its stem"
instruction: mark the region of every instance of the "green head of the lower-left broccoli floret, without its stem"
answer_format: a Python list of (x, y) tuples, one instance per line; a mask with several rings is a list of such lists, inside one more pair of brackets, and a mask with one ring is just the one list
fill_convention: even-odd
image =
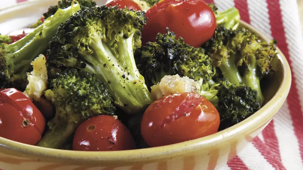
[[(105, 84), (94, 74), (67, 69), (51, 80), (45, 97), (56, 106), (56, 116), (65, 122), (79, 122), (99, 114), (113, 115), (115, 106)], [(55, 129), (55, 122), (49, 122)]]

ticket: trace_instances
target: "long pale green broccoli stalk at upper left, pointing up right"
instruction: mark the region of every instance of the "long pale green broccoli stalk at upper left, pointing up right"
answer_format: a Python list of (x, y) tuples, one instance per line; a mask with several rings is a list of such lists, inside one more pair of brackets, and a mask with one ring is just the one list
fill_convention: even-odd
[[(58, 9), (58, 11), (48, 17), (42, 25), (38, 26), (33, 32), (26, 35), (20, 41), (7, 46), (6, 51), (14, 51), (6, 54), (7, 66), (10, 67), (10, 75), (25, 74), (31, 63), (39, 54), (45, 53), (48, 48), (48, 42), (55, 35), (59, 25), (65, 22), (74, 11), (80, 9), (80, 5)], [(20, 69), (22, 68), (22, 69)]]

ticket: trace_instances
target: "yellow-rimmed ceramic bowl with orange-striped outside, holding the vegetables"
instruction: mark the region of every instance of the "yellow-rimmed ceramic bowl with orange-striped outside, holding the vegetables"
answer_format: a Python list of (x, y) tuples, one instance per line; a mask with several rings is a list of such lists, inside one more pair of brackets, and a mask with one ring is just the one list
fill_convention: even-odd
[[(0, 33), (8, 34), (40, 18), (58, 0), (21, 3), (0, 10)], [(105, 0), (96, 1), (98, 5)], [(267, 37), (245, 22), (240, 27)], [(0, 137), (0, 169), (3, 170), (203, 170), (217, 169), (253, 140), (271, 121), (288, 95), (291, 71), (281, 53), (275, 70), (262, 87), (266, 104), (244, 121), (215, 134), (173, 145), (112, 152), (82, 152), (41, 148)]]

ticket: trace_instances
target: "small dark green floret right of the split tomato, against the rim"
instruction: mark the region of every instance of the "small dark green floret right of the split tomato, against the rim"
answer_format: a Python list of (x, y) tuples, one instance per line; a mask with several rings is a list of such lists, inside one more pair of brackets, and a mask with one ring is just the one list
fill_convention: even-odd
[(257, 101), (258, 92), (244, 83), (232, 84), (227, 79), (218, 81), (218, 106), (220, 127), (225, 129), (233, 126), (260, 109)]

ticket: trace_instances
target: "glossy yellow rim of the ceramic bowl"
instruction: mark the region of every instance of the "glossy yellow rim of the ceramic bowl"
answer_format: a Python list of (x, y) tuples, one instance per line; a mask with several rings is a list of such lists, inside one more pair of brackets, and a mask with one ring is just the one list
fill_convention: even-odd
[[(44, 0), (50, 1), (50, 0)], [(0, 9), (0, 13), (9, 9), (15, 8), (22, 5), (38, 5), (39, 1), (27, 1), (19, 3), (18, 5), (13, 5), (8, 8)], [(42, 3), (43, 1), (40, 1)], [(261, 38), (266, 41), (270, 41), (268, 37), (260, 33), (256, 28), (252, 27), (244, 21), (240, 21), (240, 26), (247, 28), (251, 31), (257, 33)], [(183, 152), (195, 152), (198, 148), (210, 147), (212, 145), (217, 145), (218, 142), (225, 142), (232, 138), (234, 134), (242, 133), (245, 131), (248, 126), (251, 127), (259, 120), (269, 120), (271, 119), (276, 111), (274, 107), (281, 106), (286, 97), (291, 86), (291, 70), (289, 64), (282, 54), (280, 49), (278, 49), (278, 59), (281, 61), (281, 70), (283, 72), (282, 82), (278, 88), (275, 95), (258, 110), (256, 113), (243, 120), (240, 123), (237, 123), (234, 126), (231, 126), (222, 131), (216, 132), (212, 135), (205, 136), (198, 139), (193, 139), (186, 142), (176, 143), (172, 145), (145, 148), (145, 149), (135, 149), (135, 150), (126, 150), (126, 151), (102, 151), (102, 152), (88, 152), (88, 151), (73, 151), (73, 150), (61, 150), (61, 149), (49, 149), (38, 147), (34, 145), (27, 145), (20, 142), (15, 142), (9, 139), (0, 137), (0, 148), (5, 148), (17, 155), (30, 155), (32, 157), (37, 157), (40, 160), (47, 161), (50, 158), (60, 158), (60, 162), (64, 160), (87, 160), (87, 161), (98, 161), (98, 162), (117, 162), (117, 161), (130, 161), (130, 160), (155, 160), (171, 157), (172, 155), (182, 155)], [(278, 104), (277, 104), (278, 101)]]

